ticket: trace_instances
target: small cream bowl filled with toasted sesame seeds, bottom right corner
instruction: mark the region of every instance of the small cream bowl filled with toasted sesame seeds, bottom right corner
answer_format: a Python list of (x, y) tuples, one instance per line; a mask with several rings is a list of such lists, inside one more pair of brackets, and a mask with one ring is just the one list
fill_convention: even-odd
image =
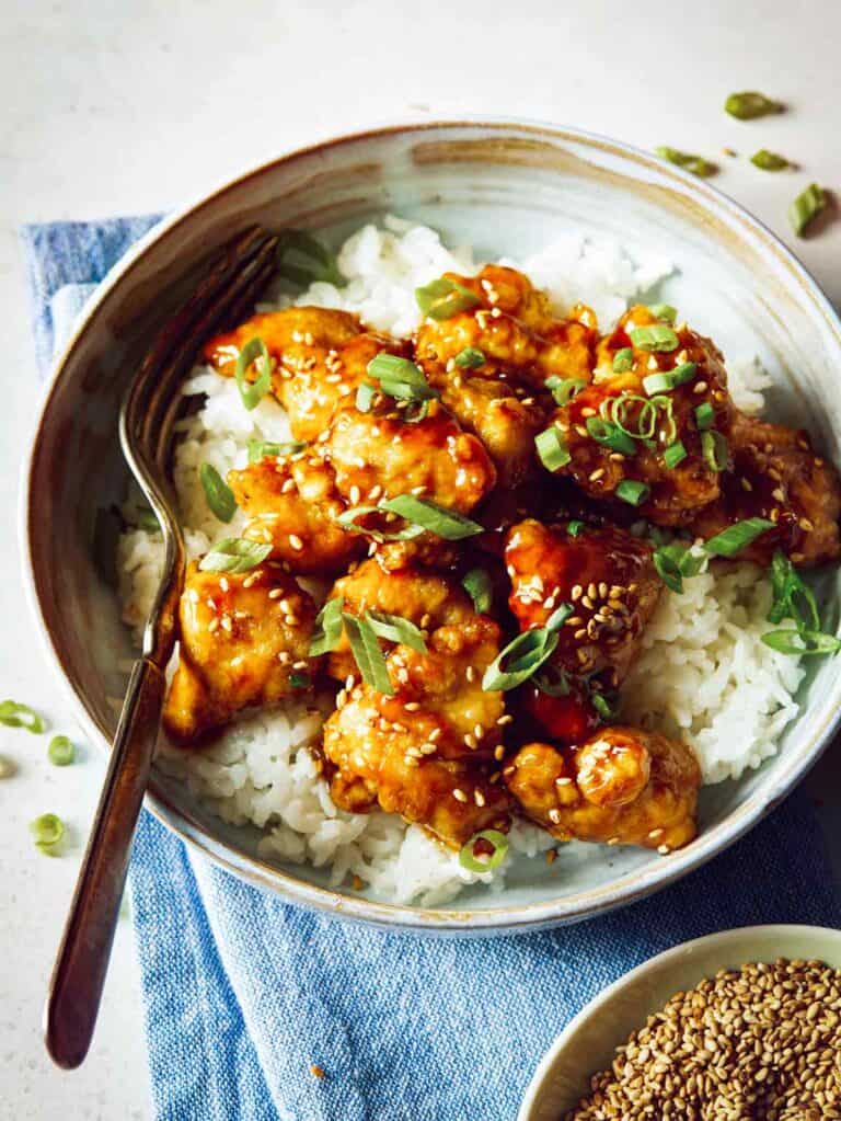
[(841, 1118), (841, 932), (683, 943), (599, 993), (541, 1060), (517, 1121)]

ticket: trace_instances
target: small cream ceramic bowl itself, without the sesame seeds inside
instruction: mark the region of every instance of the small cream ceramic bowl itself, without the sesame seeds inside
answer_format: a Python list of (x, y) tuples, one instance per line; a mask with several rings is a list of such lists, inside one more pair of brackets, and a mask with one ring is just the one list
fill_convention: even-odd
[(552, 1044), (534, 1073), (517, 1121), (560, 1121), (610, 1066), (615, 1049), (670, 997), (722, 969), (778, 957), (841, 969), (841, 932), (820, 926), (746, 926), (684, 942), (619, 978), (591, 1000)]

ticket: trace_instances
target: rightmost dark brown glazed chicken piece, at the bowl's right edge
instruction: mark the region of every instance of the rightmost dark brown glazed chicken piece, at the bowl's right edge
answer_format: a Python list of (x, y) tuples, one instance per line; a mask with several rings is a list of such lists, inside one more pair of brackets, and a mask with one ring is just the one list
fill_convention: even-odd
[(768, 518), (776, 528), (742, 549), (740, 559), (768, 564), (782, 549), (803, 567), (837, 560), (841, 483), (807, 434), (739, 414), (730, 448), (733, 469), (722, 476), (721, 498), (700, 511), (693, 531), (709, 538), (742, 518)]

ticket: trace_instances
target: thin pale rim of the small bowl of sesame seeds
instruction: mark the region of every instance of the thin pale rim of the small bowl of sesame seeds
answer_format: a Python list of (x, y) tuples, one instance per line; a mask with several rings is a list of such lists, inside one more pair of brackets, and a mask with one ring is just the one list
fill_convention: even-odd
[[(627, 973), (623, 973), (622, 976), (618, 976), (616, 981), (611, 981), (610, 984), (605, 989), (601, 989), (600, 992), (597, 992), (591, 1000), (588, 1000), (583, 1008), (576, 1012), (569, 1023), (561, 1029), (546, 1048), (531, 1077), (525, 1094), (523, 1095), (523, 1101), (520, 1103), (516, 1121), (531, 1121), (530, 1111), (535, 1103), (538, 1094), (543, 1088), (546, 1078), (551, 1074), (558, 1056), (564, 1047), (568, 1046), (581, 1026), (605, 1008), (605, 1006), (613, 1000), (616, 993), (620, 992), (624, 988), (626, 988), (626, 985), (629, 985), (639, 978), (645, 976), (646, 973), (657, 970), (660, 966), (667, 966), (672, 962), (678, 962), (688, 954), (693, 954), (697, 951), (717, 945), (723, 955), (727, 953), (727, 947), (732, 943), (739, 943), (745, 938), (761, 938), (770, 935), (774, 935), (775, 937), (785, 936), (793, 938), (814, 935), (824, 936), (828, 941), (838, 943), (839, 956), (841, 957), (841, 930), (831, 926), (812, 926), (807, 923), (763, 923), (754, 926), (735, 926), (727, 930), (714, 930), (712, 934), (704, 934), (698, 938), (690, 938), (688, 942), (680, 942), (676, 945), (671, 946), (669, 949), (662, 949), (658, 954), (646, 958), (646, 961), (641, 962), (639, 965), (635, 965), (632, 970), (628, 970)], [(776, 956), (779, 956), (779, 954)], [(756, 957), (751, 958), (751, 961), (767, 961), (767, 958)], [(718, 967), (723, 969), (726, 964), (727, 963), (722, 960)], [(830, 962), (829, 964), (832, 963)], [(839, 962), (839, 966), (841, 966), (841, 961)]]

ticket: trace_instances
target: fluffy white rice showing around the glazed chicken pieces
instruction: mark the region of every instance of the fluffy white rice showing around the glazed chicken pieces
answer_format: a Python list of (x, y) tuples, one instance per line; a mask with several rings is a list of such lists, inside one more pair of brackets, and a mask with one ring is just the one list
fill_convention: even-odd
[[(348, 282), (315, 284), (295, 303), (345, 308), (393, 335), (409, 335), (419, 321), (414, 288), (447, 269), (475, 271), (480, 262), (468, 248), (450, 250), (426, 226), (386, 219), (349, 238), (339, 253)], [(514, 265), (514, 261), (504, 261)], [(639, 294), (673, 271), (669, 261), (632, 260), (615, 244), (569, 234), (517, 263), (544, 287), (559, 313), (583, 300), (602, 325), (613, 323)], [(269, 293), (261, 309), (293, 303)], [(770, 379), (756, 360), (728, 362), (733, 400), (748, 411), (763, 407)], [(242, 408), (232, 379), (199, 368), (185, 385), (204, 396), (200, 409), (183, 424), (175, 482), (190, 556), (218, 537), (235, 536), (243, 516), (221, 526), (207, 507), (198, 480), (202, 463), (224, 476), (247, 460), (250, 437), (289, 438), (286, 414), (270, 398), (251, 413)], [(125, 503), (131, 519), (138, 497)], [(161, 568), (160, 536), (125, 532), (119, 546), (123, 618), (137, 637), (149, 612)], [(773, 756), (784, 726), (795, 716), (793, 698), (803, 669), (800, 659), (776, 654), (760, 641), (770, 590), (750, 564), (705, 572), (685, 582), (682, 595), (665, 591), (650, 623), (643, 654), (625, 689), (624, 716), (685, 735), (698, 753), (705, 782), (738, 778)], [(368, 895), (393, 902), (433, 906), (480, 880), (501, 884), (506, 865), (476, 876), (417, 826), (383, 813), (346, 814), (330, 800), (310, 753), (323, 713), (300, 704), (262, 712), (227, 729), (212, 745), (184, 751), (162, 744), (159, 766), (183, 778), (215, 814), (235, 825), (263, 831), (261, 855), (327, 868), (329, 883), (358, 877)], [(534, 856), (555, 842), (544, 831), (517, 823), (511, 852)], [(511, 860), (511, 856), (508, 858)]]

